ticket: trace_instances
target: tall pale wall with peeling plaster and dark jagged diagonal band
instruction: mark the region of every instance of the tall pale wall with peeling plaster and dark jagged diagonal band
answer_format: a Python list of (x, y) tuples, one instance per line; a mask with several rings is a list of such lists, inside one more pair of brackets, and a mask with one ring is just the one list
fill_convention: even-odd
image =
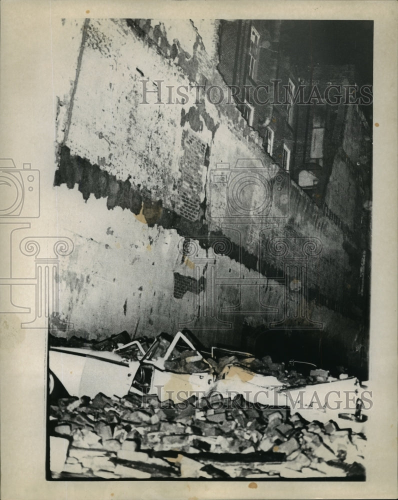
[(190, 20), (84, 24), (57, 123), (58, 213), (75, 243), (60, 269), (60, 319), (97, 338), (185, 327), (204, 344), (264, 348), (269, 332), (288, 332), (322, 338), (358, 368), (363, 328), (347, 296), (359, 273), (346, 236), (278, 171), (235, 105), (208, 98), (210, 85), (228, 89), (217, 23), (200, 28), (203, 37)]

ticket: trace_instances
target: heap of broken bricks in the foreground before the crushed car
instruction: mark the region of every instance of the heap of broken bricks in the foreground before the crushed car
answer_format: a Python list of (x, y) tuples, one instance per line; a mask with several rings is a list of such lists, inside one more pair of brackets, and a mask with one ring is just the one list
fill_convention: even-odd
[(363, 434), (307, 422), (285, 408), (219, 395), (173, 404), (101, 393), (49, 407), (50, 434), (67, 438), (53, 476), (100, 478), (364, 478)]

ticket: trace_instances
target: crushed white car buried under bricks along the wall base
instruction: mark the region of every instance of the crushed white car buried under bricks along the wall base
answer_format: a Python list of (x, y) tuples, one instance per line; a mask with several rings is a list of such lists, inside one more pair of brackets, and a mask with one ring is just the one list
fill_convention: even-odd
[[(294, 369), (302, 365), (297, 361), (285, 369), (269, 356), (258, 359), (249, 352), (221, 347), (206, 352), (189, 332), (178, 331), (174, 337), (161, 333), (150, 346), (138, 339), (126, 341), (126, 333), (89, 345), (51, 345), (50, 394), (59, 397), (63, 390), (92, 398), (98, 392), (118, 397), (130, 392), (173, 403), (192, 395), (241, 395), (250, 403), (288, 407), (306, 420), (339, 421), (353, 415), (350, 423), (357, 424), (358, 431), (365, 421), (360, 415), (363, 386), (356, 377), (334, 378), (310, 363), (304, 363), (308, 369), (303, 375)], [(346, 394), (353, 400), (355, 414), (341, 412), (339, 399)]]

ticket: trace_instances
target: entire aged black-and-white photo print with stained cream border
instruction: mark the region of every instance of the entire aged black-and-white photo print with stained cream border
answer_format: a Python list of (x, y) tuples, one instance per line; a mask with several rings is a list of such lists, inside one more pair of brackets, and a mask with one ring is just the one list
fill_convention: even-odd
[(375, 429), (396, 428), (374, 16), (61, 3), (42, 70), (16, 83), (48, 93), (45, 127), (29, 93), (15, 108), (36, 152), (1, 147), (1, 354), (27, 413), (5, 442), (27, 466), (39, 429), (35, 470), (65, 498), (92, 484), (168, 498), (186, 481), (175, 498), (285, 483), (355, 497), (342, 491), (376, 480)]

